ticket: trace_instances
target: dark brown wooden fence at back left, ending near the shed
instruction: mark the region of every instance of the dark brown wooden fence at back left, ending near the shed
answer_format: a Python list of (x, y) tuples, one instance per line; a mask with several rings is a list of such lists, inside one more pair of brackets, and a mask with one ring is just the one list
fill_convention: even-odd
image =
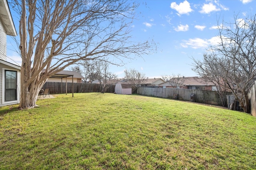
[[(114, 93), (115, 85), (109, 84), (106, 93)], [(66, 93), (66, 82), (46, 82), (43, 89), (49, 88), (50, 94)], [(74, 83), (74, 93), (101, 92), (100, 84)], [(72, 83), (67, 83), (67, 92), (72, 93)]]

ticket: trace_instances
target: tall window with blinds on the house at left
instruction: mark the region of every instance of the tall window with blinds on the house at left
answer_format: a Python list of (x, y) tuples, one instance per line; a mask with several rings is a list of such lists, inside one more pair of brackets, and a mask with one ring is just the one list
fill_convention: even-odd
[(5, 101), (17, 100), (17, 71), (5, 70)]

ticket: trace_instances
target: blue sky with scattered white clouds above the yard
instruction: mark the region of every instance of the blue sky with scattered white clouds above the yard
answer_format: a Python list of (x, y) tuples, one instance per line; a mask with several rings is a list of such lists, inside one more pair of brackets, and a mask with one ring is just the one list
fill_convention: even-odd
[[(134, 41), (154, 39), (158, 50), (135, 60), (124, 60), (124, 66), (111, 66), (120, 78), (124, 70), (134, 68), (149, 78), (181, 74), (197, 76), (192, 71), (192, 57), (202, 59), (209, 45), (216, 43), (217, 20), (234, 22), (234, 16), (245, 18), (256, 14), (255, 0), (147, 0), (139, 1), (132, 25)], [(11, 11), (12, 12), (12, 11)], [(13, 18), (18, 23), (17, 18)], [(16, 25), (18, 31), (18, 25)], [(7, 36), (7, 57), (16, 63), (21, 59), (12, 50)], [(8, 59), (9, 62), (14, 63)], [(68, 68), (66, 69), (68, 70)]]

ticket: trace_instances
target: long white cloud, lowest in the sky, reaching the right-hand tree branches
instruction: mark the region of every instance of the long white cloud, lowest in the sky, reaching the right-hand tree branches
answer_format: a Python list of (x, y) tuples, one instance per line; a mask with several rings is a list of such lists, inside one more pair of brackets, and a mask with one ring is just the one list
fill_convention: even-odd
[(191, 47), (192, 49), (199, 49), (199, 48), (207, 48), (212, 45), (218, 45), (220, 43), (220, 37), (212, 37), (211, 39), (201, 39), (201, 38), (194, 38), (183, 40), (184, 43), (180, 43), (181, 47), (188, 48)]

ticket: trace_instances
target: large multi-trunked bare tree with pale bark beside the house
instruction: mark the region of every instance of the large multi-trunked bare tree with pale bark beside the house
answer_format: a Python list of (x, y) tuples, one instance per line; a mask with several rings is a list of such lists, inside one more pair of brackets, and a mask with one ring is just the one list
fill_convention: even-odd
[[(20, 16), (20, 108), (36, 106), (46, 80), (81, 60), (151, 53), (148, 41), (131, 42), (138, 4), (129, 0), (13, 0)], [(114, 60), (114, 59), (113, 59)], [(45, 68), (44, 74), (41, 74)]]

